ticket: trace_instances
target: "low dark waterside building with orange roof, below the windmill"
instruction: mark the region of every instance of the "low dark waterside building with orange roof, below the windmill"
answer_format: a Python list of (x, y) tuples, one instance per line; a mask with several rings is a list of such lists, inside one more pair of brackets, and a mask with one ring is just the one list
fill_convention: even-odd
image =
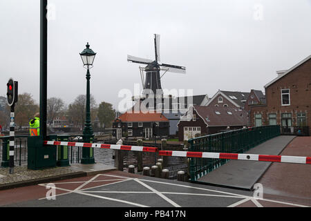
[(124, 113), (113, 122), (113, 137), (153, 137), (153, 123), (157, 123), (158, 136), (169, 136), (169, 119), (162, 113)]

